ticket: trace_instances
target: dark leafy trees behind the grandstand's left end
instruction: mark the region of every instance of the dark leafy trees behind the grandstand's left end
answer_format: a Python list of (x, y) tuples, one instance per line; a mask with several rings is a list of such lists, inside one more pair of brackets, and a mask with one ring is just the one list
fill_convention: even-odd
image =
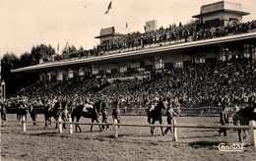
[[(74, 45), (66, 44), (61, 51), (61, 56), (69, 56), (73, 53), (84, 52), (84, 48), (76, 49)], [(20, 57), (7, 52), (1, 59), (1, 78), (6, 82), (7, 97), (13, 96), (17, 90), (28, 86), (39, 79), (38, 73), (11, 73), (11, 70), (37, 65), (41, 60), (50, 61), (52, 56), (58, 55), (51, 45), (39, 44), (32, 46), (31, 52), (25, 52)]]

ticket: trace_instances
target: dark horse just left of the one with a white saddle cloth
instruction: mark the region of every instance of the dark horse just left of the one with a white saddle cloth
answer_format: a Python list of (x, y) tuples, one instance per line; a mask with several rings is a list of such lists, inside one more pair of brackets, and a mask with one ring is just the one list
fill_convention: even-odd
[[(45, 119), (44, 129), (48, 128), (48, 124), (49, 124), (48, 122), (51, 117), (53, 117), (55, 119), (55, 121), (57, 122), (61, 113), (62, 113), (62, 110), (61, 110), (61, 104), (59, 101), (54, 103), (52, 109), (49, 108), (48, 106), (45, 106), (43, 109), (43, 115), (44, 115), (44, 119)], [(56, 123), (55, 129), (57, 129), (57, 126), (58, 126), (58, 124)]]

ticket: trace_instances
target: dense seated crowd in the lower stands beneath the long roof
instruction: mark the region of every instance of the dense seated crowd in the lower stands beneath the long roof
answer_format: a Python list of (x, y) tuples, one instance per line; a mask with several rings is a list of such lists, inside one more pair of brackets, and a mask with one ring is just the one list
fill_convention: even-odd
[(17, 95), (28, 97), (35, 105), (48, 100), (66, 102), (69, 108), (88, 100), (104, 100), (109, 106), (118, 101), (127, 108), (147, 108), (164, 99), (173, 107), (251, 106), (256, 102), (256, 65), (249, 59), (192, 64), (164, 69), (155, 79), (115, 80), (75, 78), (65, 81), (36, 82)]

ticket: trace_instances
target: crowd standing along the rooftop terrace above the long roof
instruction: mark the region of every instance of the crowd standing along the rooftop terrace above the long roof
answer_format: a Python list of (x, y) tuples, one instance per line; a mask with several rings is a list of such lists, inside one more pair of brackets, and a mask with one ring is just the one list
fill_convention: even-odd
[(199, 22), (189, 23), (186, 25), (179, 23), (178, 26), (173, 24), (166, 28), (160, 27), (157, 30), (145, 31), (143, 33), (139, 31), (127, 33), (124, 37), (103, 41), (91, 50), (79, 50), (70, 55), (65, 55), (65, 57), (58, 56), (55, 60), (99, 56), (134, 49), (142, 49), (156, 45), (161, 46), (163, 44), (174, 44), (215, 38), (230, 34), (245, 33), (255, 27), (255, 22), (232, 24), (224, 27), (202, 27)]

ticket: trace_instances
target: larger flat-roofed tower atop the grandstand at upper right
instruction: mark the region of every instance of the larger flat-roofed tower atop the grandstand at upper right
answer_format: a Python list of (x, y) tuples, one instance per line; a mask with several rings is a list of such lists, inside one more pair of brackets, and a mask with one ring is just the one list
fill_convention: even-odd
[(193, 18), (198, 18), (205, 27), (222, 27), (230, 21), (239, 23), (243, 16), (249, 14), (242, 11), (240, 3), (221, 1), (202, 6), (200, 14), (193, 16)]

